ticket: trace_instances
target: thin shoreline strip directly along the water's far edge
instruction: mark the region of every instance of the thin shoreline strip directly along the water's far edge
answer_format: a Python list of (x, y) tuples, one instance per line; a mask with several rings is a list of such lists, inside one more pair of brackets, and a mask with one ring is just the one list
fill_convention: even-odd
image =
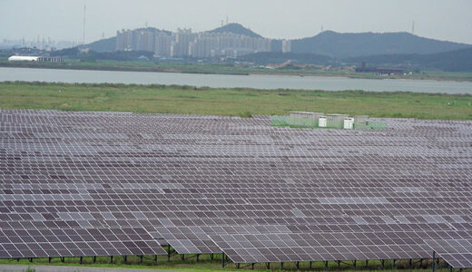
[[(272, 76), (287, 76), (287, 77), (330, 77), (330, 78), (349, 78), (362, 80), (398, 80), (398, 81), (436, 81), (436, 82), (455, 82), (464, 83), (472, 82), (472, 78), (456, 78), (456, 77), (442, 77), (442, 76), (413, 76), (413, 77), (397, 77), (397, 76), (379, 76), (359, 73), (359, 76), (352, 74), (338, 74), (338, 73), (264, 73), (264, 72), (248, 72), (248, 73), (218, 73), (206, 71), (185, 71), (172, 68), (161, 67), (123, 67), (123, 66), (63, 66), (63, 65), (38, 65), (36, 63), (1, 63), (1, 68), (27, 68), (27, 69), (56, 69), (56, 70), (79, 70), (79, 71), (108, 71), (108, 72), (146, 72), (146, 73), (187, 73), (187, 74), (218, 74), (218, 75), (272, 75)], [(367, 76), (364, 76), (367, 75)]]

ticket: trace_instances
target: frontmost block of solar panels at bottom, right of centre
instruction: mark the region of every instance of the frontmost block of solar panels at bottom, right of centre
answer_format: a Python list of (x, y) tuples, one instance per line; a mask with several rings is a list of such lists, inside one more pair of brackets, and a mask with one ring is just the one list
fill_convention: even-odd
[[(356, 259), (427, 258), (421, 238), (389, 238), (394, 232), (212, 235), (213, 241), (235, 263), (326, 261)], [(384, 242), (382, 238), (391, 242)]]

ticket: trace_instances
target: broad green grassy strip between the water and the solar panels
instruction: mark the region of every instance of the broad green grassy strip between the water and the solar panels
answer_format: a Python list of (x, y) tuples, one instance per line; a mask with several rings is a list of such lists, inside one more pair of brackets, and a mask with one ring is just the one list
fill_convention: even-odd
[(472, 96), (414, 92), (262, 91), (185, 86), (0, 83), (0, 108), (249, 116), (290, 111), (472, 119)]

